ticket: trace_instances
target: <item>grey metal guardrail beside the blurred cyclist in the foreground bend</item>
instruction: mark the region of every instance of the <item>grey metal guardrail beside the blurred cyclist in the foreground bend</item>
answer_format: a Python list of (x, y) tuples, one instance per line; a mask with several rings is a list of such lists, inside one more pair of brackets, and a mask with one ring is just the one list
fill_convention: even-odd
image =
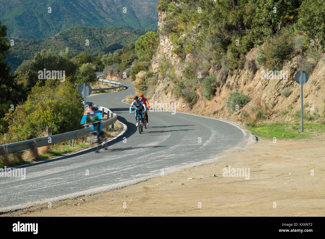
[[(110, 110), (108, 108), (99, 107), (99, 109), (100, 110), (104, 109), (104, 112), (107, 113), (107, 117), (109, 116)], [(102, 122), (102, 128), (107, 128), (108, 126), (113, 125), (117, 121), (117, 114), (113, 113), (111, 115), (113, 115), (111, 119)], [(42, 137), (36, 139), (28, 139), (25, 141), (20, 141), (20, 142), (10, 143), (10, 144), (3, 144), (0, 145), (0, 154), (15, 153), (26, 149), (31, 149), (33, 147), (38, 148), (38, 147), (43, 147), (46, 145), (60, 143), (72, 139), (78, 139), (80, 137), (89, 135), (89, 133), (90, 133), (90, 127), (87, 127), (87, 128), (63, 133), (63, 134), (51, 135), (48, 137)]]

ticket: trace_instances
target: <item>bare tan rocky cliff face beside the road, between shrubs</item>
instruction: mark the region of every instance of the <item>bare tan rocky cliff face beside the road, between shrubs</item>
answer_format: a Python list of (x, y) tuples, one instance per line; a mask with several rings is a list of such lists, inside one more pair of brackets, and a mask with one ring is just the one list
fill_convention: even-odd
[[(161, 30), (164, 22), (165, 13), (159, 13), (158, 29)], [(198, 89), (197, 93), (200, 96), (194, 106), (189, 106), (182, 98), (176, 98), (173, 93), (173, 83), (162, 74), (163, 59), (168, 60), (171, 65), (167, 71), (173, 71), (174, 74), (182, 74), (184, 63), (174, 53), (172, 53), (173, 44), (168, 36), (159, 35), (160, 44), (158, 46), (157, 55), (153, 59), (151, 71), (159, 73), (158, 83), (150, 99), (151, 104), (155, 101), (162, 103), (173, 103), (176, 110), (180, 112), (201, 113), (209, 116), (216, 116), (242, 123), (242, 114), (256, 114), (256, 109), (265, 109), (267, 119), (271, 121), (292, 120), (292, 114), (300, 111), (300, 85), (294, 80), (294, 74), (300, 70), (297, 65), (297, 57), (285, 62), (280, 72), (271, 72), (271, 69), (251, 69), (249, 64), (245, 64), (244, 69), (229, 72), (225, 74), (222, 71), (216, 71), (213, 67), (210, 69), (210, 74), (215, 74), (216, 77), (224, 77), (224, 84), (221, 84), (216, 89), (216, 94), (211, 100), (206, 100), (202, 97), (202, 89)], [(246, 60), (254, 60), (256, 57), (257, 48), (253, 48), (246, 55)], [(190, 61), (191, 57), (186, 56), (186, 61)], [(281, 73), (282, 73), (281, 72)], [(208, 73), (208, 74), (209, 74)], [(324, 113), (325, 106), (325, 81), (324, 81), (325, 66), (321, 63), (314, 68), (313, 72), (309, 72), (309, 80), (304, 85), (304, 104), (305, 110), (316, 112), (318, 115)], [(290, 95), (282, 96), (281, 91), (289, 87)], [(167, 90), (170, 89), (170, 90)], [(239, 111), (230, 115), (227, 111), (227, 100), (231, 92), (238, 91), (247, 94), (251, 101)], [(288, 113), (286, 113), (288, 112)], [(252, 118), (255, 116), (253, 115)], [(256, 117), (255, 117), (256, 118)]]

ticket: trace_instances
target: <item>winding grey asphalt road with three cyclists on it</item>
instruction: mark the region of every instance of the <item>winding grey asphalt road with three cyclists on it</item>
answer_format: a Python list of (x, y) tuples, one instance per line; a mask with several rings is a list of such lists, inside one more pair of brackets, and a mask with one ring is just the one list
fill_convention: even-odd
[(135, 94), (132, 83), (123, 85), (123, 91), (87, 98), (117, 113), (127, 126), (109, 149), (24, 166), (23, 180), (0, 177), (0, 211), (118, 189), (178, 168), (213, 162), (225, 150), (240, 150), (254, 142), (249, 131), (231, 122), (178, 112), (149, 112), (149, 127), (139, 134), (130, 105), (122, 102)]

